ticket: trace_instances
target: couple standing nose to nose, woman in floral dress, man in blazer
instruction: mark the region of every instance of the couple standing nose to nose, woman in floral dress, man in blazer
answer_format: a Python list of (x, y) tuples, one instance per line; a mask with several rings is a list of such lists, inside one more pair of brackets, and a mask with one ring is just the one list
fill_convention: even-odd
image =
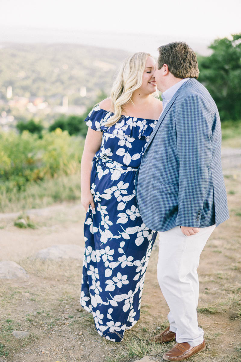
[(197, 267), (211, 233), (229, 215), (219, 113), (197, 81), (196, 55), (184, 42), (158, 51), (157, 62), (145, 52), (129, 56), (111, 97), (86, 118), (80, 302), (100, 336), (120, 342), (139, 319), (158, 234), (157, 278), (169, 327), (150, 342), (176, 340), (163, 359), (183, 361), (206, 348), (197, 321)]

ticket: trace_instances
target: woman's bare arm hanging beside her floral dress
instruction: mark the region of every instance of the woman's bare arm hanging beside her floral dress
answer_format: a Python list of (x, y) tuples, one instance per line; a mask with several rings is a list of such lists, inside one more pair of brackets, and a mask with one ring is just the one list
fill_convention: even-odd
[(85, 147), (81, 159), (81, 203), (86, 212), (89, 205), (91, 205), (92, 209), (95, 208), (94, 199), (90, 192), (91, 161), (100, 148), (102, 135), (102, 132), (89, 128), (85, 139)]

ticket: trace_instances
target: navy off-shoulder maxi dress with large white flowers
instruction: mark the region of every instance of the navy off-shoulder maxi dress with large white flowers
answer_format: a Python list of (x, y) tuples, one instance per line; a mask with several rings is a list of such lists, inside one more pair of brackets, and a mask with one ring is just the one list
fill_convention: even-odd
[(90, 178), (95, 211), (89, 207), (84, 235), (82, 307), (91, 312), (98, 333), (120, 342), (137, 323), (146, 267), (156, 232), (142, 221), (134, 178), (156, 121), (122, 116), (111, 127), (112, 113), (96, 106), (87, 126), (102, 131)]

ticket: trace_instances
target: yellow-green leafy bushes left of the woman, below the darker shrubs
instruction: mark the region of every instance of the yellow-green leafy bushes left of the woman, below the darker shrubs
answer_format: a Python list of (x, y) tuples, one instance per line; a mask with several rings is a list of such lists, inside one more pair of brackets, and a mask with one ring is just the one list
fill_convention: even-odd
[[(44, 179), (75, 174), (79, 170), (83, 139), (56, 129), (36, 134), (0, 132), (0, 194)], [(1, 196), (0, 196), (1, 197)]]

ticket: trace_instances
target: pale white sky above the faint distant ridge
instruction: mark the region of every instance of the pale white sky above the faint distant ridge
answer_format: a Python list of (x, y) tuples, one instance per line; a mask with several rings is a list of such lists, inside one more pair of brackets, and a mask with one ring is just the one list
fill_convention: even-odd
[(0, 0), (0, 24), (214, 39), (241, 32), (241, 0)]

